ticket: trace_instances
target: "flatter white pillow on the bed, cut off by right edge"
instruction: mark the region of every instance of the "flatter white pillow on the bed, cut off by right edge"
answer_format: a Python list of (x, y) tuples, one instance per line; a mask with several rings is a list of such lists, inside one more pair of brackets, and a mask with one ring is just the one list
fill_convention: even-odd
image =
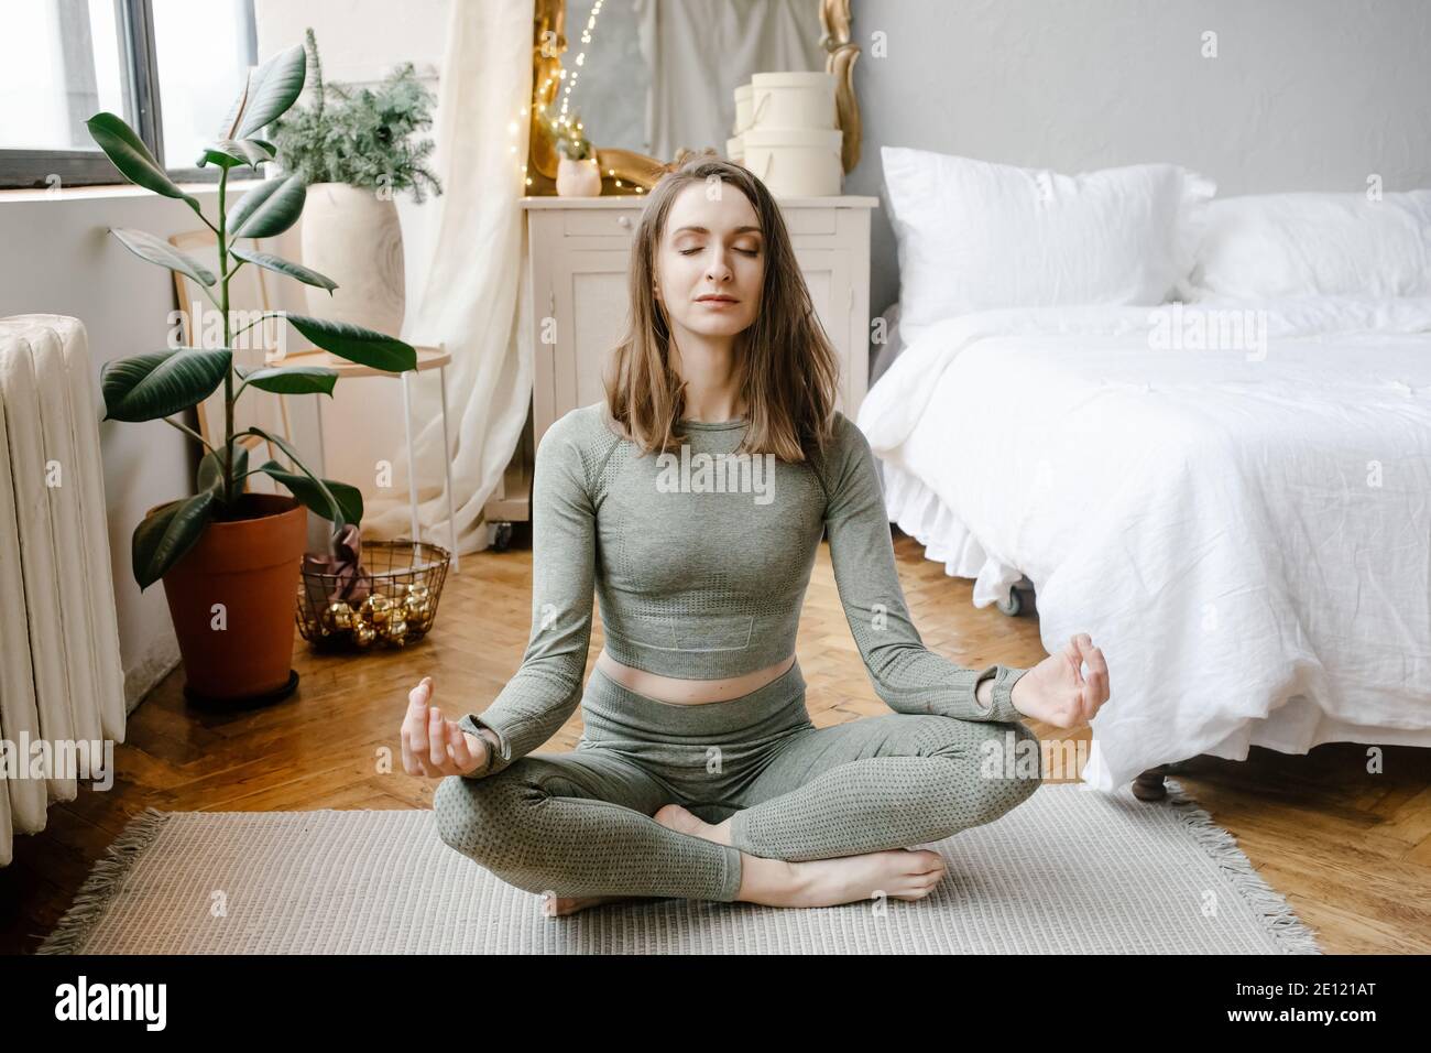
[(1431, 191), (1224, 198), (1189, 299), (1431, 295)]

